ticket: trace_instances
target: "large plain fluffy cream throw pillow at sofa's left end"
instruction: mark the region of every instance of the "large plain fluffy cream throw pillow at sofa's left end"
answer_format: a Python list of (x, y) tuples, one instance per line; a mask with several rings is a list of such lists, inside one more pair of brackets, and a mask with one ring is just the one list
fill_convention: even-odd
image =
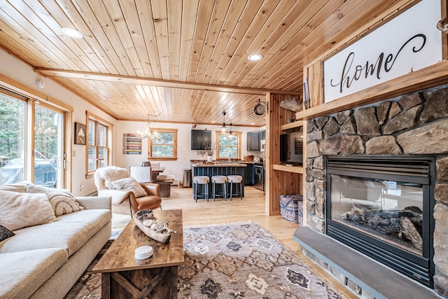
[(10, 230), (56, 220), (48, 197), (43, 193), (0, 190), (0, 199), (0, 225)]

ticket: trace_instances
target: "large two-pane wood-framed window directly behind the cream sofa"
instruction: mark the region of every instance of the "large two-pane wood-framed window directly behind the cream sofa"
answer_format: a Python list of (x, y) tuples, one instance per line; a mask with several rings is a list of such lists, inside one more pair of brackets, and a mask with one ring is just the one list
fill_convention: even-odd
[(64, 111), (0, 90), (0, 183), (65, 188)]

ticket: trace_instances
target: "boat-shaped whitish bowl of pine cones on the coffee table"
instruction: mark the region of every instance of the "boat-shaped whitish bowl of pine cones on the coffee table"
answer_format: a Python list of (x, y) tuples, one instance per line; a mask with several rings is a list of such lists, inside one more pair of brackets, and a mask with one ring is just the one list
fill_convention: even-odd
[(155, 218), (151, 209), (143, 209), (137, 211), (134, 215), (134, 222), (142, 232), (151, 239), (161, 243), (168, 243), (171, 233), (176, 233), (175, 230), (168, 228), (168, 223), (162, 219)]

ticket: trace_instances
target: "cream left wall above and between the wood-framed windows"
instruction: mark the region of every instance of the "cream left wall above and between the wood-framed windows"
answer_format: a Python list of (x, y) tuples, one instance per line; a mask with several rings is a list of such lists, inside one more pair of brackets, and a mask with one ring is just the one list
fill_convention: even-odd
[[(85, 102), (83, 99), (74, 95), (69, 90), (66, 90), (61, 85), (55, 83), (50, 78), (43, 78), (43, 82), (45, 83), (44, 88), (36, 87), (36, 78), (38, 75), (34, 73), (33, 69), (29, 67), (28, 64), (24, 64), (20, 62), (20, 60), (15, 59), (15, 57), (8, 55), (8, 53), (0, 50), (0, 72), (4, 76), (12, 78), (15, 81), (18, 81), (24, 85), (27, 85), (29, 88), (33, 90), (37, 90), (38, 92), (42, 92), (48, 97), (56, 99), (59, 102), (66, 104), (67, 106), (73, 107), (73, 123), (83, 123), (85, 124), (85, 111), (90, 111), (95, 115), (104, 118), (104, 120), (113, 123), (114, 127), (116, 126), (116, 119), (99, 110), (97, 107), (92, 106), (91, 104)], [(41, 77), (39, 77), (41, 78)], [(71, 135), (71, 144), (72, 144), (72, 155), (68, 153), (69, 161), (67, 165), (70, 165), (71, 159), (71, 186), (73, 194), (76, 196), (87, 195), (97, 188), (94, 186), (94, 180), (85, 179), (85, 149), (86, 146), (75, 145), (73, 144), (73, 134)], [(115, 148), (116, 139), (114, 138), (113, 148)], [(113, 162), (115, 162), (116, 157), (113, 156)], [(80, 190), (80, 185), (83, 185), (83, 190)]]

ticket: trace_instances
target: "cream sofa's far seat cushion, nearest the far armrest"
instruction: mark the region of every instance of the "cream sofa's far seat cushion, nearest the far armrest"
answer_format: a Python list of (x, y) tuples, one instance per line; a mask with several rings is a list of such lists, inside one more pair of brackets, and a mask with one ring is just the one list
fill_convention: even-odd
[(14, 237), (0, 243), (0, 253), (62, 248), (71, 256), (111, 218), (109, 209), (86, 209), (64, 214), (52, 223), (15, 230)]

